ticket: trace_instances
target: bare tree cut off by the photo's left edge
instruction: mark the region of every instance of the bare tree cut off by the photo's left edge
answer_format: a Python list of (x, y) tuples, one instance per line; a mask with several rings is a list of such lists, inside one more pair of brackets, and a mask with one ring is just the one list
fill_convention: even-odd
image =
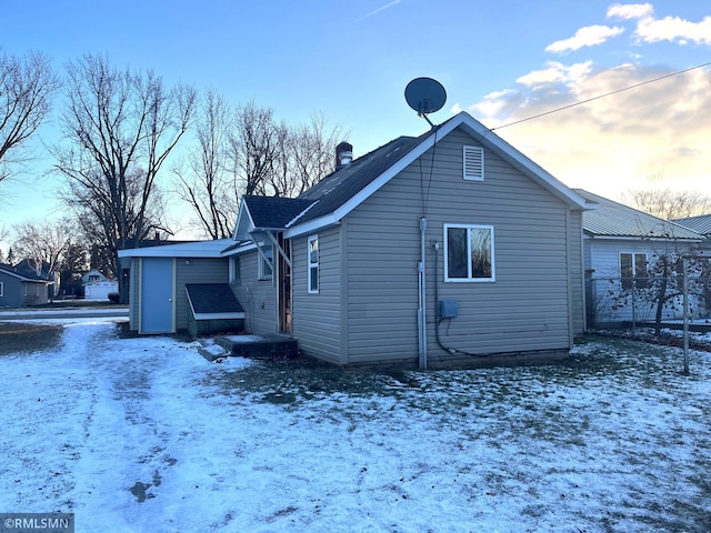
[(27, 159), (27, 140), (50, 111), (60, 82), (41, 52), (0, 57), (0, 182)]

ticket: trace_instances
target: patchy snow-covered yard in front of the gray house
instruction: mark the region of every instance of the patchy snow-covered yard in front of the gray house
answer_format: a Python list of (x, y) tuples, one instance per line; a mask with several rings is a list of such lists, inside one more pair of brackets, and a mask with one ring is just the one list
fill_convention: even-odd
[(711, 354), (341, 371), (61, 322), (0, 356), (0, 510), (77, 532), (711, 531)]

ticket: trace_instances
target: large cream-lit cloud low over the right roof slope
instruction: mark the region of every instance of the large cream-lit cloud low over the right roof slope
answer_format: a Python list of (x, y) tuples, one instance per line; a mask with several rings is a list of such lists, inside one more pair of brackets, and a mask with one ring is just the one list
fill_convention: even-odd
[(495, 132), (571, 187), (614, 198), (659, 174), (660, 187), (711, 194), (710, 70), (574, 105), (668, 73), (638, 63), (594, 70), (552, 62), (470, 109), (494, 129), (543, 114)]

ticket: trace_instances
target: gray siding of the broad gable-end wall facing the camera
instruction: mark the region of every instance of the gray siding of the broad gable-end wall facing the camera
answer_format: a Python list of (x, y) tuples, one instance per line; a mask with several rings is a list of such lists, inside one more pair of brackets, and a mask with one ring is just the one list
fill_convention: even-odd
[(349, 363), (417, 360), (415, 264), (423, 195), (430, 358), (449, 356), (435, 341), (431, 249), (435, 241), (443, 247), (447, 223), (493, 225), (495, 282), (444, 283), (440, 251), (439, 299), (459, 303), (459, 316), (440, 328), (442, 343), (478, 354), (571, 348), (574, 294), (569, 290), (575, 278), (568, 264), (575, 244), (569, 242), (574, 233), (568, 228), (569, 208), (488, 150), (484, 181), (464, 181), (462, 144), (477, 145), (463, 132), (452, 132), (437, 144), (432, 168), (430, 149), (421, 164), (409, 165), (349, 214)]

